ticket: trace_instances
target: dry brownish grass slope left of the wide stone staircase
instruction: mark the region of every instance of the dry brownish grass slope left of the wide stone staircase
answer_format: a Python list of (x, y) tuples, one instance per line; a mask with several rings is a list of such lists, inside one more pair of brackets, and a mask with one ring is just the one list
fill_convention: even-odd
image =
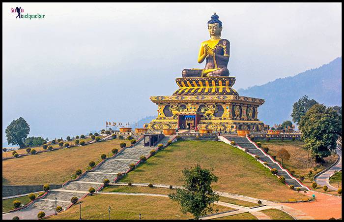
[(100, 162), (101, 154), (112, 154), (113, 148), (127, 140), (113, 139), (86, 146), (72, 147), (2, 161), (3, 185), (61, 184), (77, 169), (86, 170), (89, 161)]

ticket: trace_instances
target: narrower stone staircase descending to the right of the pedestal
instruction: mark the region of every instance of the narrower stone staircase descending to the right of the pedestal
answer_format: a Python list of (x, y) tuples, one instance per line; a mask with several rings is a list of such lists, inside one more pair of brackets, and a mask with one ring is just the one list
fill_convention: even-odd
[(265, 155), (262, 151), (260, 151), (255, 145), (253, 145), (246, 137), (241, 136), (224, 136), (229, 141), (234, 141), (235, 144), (243, 149), (246, 149), (248, 153), (258, 156), (259, 160), (263, 162), (267, 162), (267, 165), (270, 168), (277, 169), (278, 176), (284, 176), (286, 178), (287, 185), (293, 185), (294, 188), (300, 188), (300, 190), (308, 190), (306, 187), (302, 186), (295, 178), (291, 177), (287, 170), (280, 167), (279, 164), (269, 156)]

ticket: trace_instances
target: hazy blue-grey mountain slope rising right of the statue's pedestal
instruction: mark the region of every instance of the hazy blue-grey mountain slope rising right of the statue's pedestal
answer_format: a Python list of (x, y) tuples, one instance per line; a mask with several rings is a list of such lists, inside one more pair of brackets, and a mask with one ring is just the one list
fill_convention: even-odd
[(265, 99), (258, 108), (258, 118), (270, 126), (291, 120), (292, 105), (303, 95), (326, 106), (342, 106), (342, 57), (295, 76), (239, 89), (238, 93)]

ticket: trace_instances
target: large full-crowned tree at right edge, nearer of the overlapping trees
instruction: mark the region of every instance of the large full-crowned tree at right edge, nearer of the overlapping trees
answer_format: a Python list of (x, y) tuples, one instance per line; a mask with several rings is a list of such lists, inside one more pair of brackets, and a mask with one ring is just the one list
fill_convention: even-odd
[(301, 118), (299, 129), (305, 148), (316, 162), (321, 162), (336, 149), (336, 140), (342, 134), (342, 116), (331, 107), (316, 104)]

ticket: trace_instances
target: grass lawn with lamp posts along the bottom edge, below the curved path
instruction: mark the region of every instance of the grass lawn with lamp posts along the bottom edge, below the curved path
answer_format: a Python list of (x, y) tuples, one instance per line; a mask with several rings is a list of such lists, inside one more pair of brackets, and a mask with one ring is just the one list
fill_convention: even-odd
[[(111, 207), (112, 220), (139, 219), (140, 213), (142, 220), (193, 218), (191, 214), (182, 214), (179, 205), (168, 197), (94, 194), (82, 200), (81, 205), (82, 219), (84, 220), (108, 220), (109, 206)], [(220, 205), (215, 205), (213, 208), (214, 211), (217, 209), (218, 212), (232, 210), (229, 207)], [(79, 204), (76, 204), (67, 211), (61, 212), (49, 219), (78, 220), (79, 212)]]

